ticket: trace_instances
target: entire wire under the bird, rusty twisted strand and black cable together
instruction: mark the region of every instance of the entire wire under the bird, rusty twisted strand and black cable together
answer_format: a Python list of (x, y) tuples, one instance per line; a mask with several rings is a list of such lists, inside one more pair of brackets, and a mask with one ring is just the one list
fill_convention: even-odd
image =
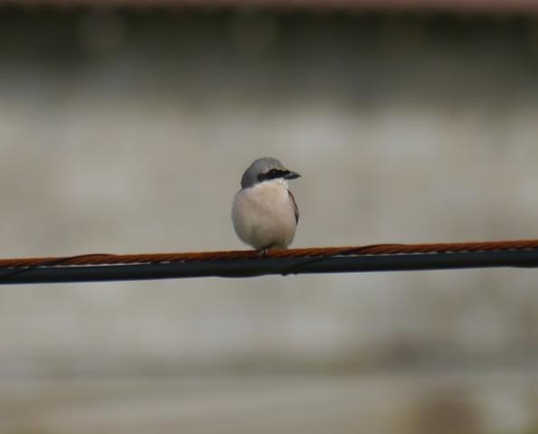
[(538, 240), (0, 259), (0, 284), (538, 267)]

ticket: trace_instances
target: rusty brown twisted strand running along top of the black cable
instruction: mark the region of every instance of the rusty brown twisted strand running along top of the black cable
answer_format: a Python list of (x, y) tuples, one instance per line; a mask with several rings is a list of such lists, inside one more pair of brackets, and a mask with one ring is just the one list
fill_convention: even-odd
[(290, 250), (269, 250), (260, 255), (255, 250), (203, 251), (187, 253), (141, 253), (114, 255), (106, 253), (86, 254), (70, 257), (0, 259), (0, 269), (85, 266), (85, 265), (127, 265), (156, 264), (166, 262), (204, 261), (222, 259), (263, 259), (263, 258), (326, 258), (335, 256), (362, 256), (414, 253), (448, 253), (463, 251), (505, 251), (536, 250), (538, 240), (483, 241), (483, 242), (442, 242), (427, 244), (373, 244), (356, 247), (320, 247)]

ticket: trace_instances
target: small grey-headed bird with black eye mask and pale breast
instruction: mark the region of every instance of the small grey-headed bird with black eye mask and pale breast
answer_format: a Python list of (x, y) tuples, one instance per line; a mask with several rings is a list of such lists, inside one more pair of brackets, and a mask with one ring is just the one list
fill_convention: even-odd
[(255, 160), (241, 177), (231, 221), (237, 236), (254, 249), (286, 249), (299, 221), (299, 211), (288, 180), (300, 177), (276, 158)]

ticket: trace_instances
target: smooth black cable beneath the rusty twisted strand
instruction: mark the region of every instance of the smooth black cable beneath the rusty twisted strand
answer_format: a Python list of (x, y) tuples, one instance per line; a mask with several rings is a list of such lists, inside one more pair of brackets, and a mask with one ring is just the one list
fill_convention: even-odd
[(188, 260), (134, 265), (44, 266), (0, 269), (0, 284), (67, 283), (161, 278), (247, 278), (264, 275), (538, 267), (538, 250), (464, 251), (326, 258)]

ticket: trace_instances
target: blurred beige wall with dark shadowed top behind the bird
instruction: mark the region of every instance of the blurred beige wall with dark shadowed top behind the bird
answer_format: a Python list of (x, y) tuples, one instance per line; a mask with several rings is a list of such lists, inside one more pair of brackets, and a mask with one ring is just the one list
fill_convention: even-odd
[[(0, 24), (4, 258), (241, 248), (231, 198), (258, 156), (303, 175), (297, 247), (538, 238), (530, 19)], [(524, 369), (536, 282), (479, 269), (0, 287), (0, 376)]]

